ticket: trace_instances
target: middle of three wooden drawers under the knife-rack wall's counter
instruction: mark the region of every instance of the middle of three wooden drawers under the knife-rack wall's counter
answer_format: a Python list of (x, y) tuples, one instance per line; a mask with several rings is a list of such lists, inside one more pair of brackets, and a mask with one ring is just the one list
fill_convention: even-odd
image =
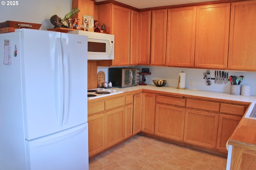
[(186, 107), (204, 109), (209, 111), (220, 111), (220, 103), (194, 100), (194, 99), (187, 99)]

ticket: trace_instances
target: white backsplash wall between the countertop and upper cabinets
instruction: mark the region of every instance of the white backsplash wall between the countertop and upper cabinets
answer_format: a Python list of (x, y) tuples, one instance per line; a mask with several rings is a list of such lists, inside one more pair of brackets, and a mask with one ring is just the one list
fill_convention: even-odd
[[(133, 66), (132, 66), (133, 67)], [(160, 66), (135, 66), (139, 68), (149, 68), (151, 75), (147, 75), (146, 84), (154, 84), (152, 80), (162, 79), (167, 80), (166, 86), (177, 87), (178, 85), (178, 75), (180, 72), (186, 72), (186, 88), (198, 89), (198, 90), (208, 90), (214, 92), (230, 92), (230, 82), (226, 84), (215, 84), (214, 80), (211, 80), (212, 85), (207, 86), (204, 79), (204, 72), (206, 69), (196, 69), (196, 68), (175, 68), (175, 67), (160, 67)], [(106, 81), (108, 81), (108, 67), (98, 66), (98, 72), (102, 70), (106, 74)], [(231, 76), (244, 76), (244, 81), (242, 84), (248, 84), (251, 86), (251, 95), (256, 96), (256, 72), (236, 72), (223, 70), (228, 72), (228, 75)], [(210, 70), (210, 75), (214, 78), (215, 70)], [(140, 81), (142, 76), (140, 76)], [(190, 86), (190, 80), (193, 80), (193, 86)], [(242, 85), (241, 84), (241, 85)]]

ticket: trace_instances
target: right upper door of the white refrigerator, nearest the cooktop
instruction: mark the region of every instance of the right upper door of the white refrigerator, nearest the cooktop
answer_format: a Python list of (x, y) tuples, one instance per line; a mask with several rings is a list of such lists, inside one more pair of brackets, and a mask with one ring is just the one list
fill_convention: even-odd
[(63, 129), (87, 122), (87, 36), (61, 34), (64, 69)]

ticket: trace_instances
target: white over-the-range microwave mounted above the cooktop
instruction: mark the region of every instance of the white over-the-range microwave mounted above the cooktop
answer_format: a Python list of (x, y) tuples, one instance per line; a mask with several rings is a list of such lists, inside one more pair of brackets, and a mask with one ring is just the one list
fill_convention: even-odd
[(88, 60), (114, 60), (114, 35), (90, 31), (68, 31), (88, 36)]

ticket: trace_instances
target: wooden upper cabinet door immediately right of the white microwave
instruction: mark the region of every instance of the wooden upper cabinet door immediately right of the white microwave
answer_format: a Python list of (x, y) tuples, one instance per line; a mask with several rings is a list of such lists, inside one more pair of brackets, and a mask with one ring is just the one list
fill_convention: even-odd
[(111, 33), (115, 35), (115, 57), (112, 66), (130, 65), (130, 9), (112, 5)]

